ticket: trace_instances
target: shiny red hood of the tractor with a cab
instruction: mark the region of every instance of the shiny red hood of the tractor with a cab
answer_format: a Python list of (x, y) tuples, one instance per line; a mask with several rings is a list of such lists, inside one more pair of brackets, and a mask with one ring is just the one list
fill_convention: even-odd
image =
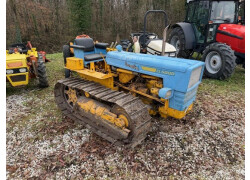
[(216, 41), (226, 43), (237, 53), (245, 53), (245, 26), (238, 24), (221, 24)]

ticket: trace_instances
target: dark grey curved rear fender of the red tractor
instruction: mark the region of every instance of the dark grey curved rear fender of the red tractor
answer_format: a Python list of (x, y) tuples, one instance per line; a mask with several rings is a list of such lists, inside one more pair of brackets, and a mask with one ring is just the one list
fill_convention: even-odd
[(196, 41), (195, 41), (195, 34), (194, 34), (192, 25), (186, 22), (179, 22), (179, 23), (174, 24), (172, 26), (172, 29), (174, 29), (175, 27), (182, 28), (184, 32), (185, 40), (186, 40), (185, 49), (194, 49)]

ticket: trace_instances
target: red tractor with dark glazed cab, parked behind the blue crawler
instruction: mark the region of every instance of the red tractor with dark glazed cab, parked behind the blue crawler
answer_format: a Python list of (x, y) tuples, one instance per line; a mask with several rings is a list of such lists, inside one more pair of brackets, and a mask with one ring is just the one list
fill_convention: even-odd
[[(174, 24), (169, 43), (177, 56), (202, 54), (205, 75), (226, 79), (236, 63), (245, 66), (245, 26), (239, 22), (239, 0), (193, 0), (188, 2), (184, 22)], [(198, 57), (197, 55), (197, 57)]]

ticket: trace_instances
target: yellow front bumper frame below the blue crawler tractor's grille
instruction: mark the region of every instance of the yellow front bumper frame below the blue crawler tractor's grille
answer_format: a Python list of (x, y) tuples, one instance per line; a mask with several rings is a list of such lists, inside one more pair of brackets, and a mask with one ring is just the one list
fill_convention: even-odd
[(169, 102), (166, 100), (165, 105), (159, 107), (159, 113), (161, 117), (167, 118), (171, 116), (176, 119), (181, 119), (193, 108), (193, 104), (191, 104), (185, 111), (178, 111), (176, 109), (169, 108)]

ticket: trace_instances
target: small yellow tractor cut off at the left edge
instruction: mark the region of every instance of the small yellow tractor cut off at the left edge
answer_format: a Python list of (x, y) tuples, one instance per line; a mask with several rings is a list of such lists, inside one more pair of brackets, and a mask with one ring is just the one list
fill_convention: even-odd
[(14, 87), (27, 85), (30, 78), (38, 78), (39, 87), (48, 87), (44, 51), (37, 52), (31, 43), (12, 44), (6, 51), (6, 78)]

